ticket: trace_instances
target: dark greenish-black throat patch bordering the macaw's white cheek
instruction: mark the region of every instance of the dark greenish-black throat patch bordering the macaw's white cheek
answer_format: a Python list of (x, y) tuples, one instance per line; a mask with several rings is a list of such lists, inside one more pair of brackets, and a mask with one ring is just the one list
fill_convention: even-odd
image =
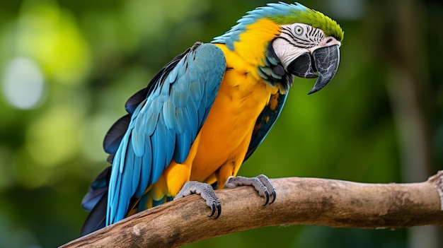
[(265, 66), (258, 67), (258, 74), (270, 85), (276, 87), (280, 86), (282, 93), (286, 93), (291, 87), (294, 81), (294, 76), (284, 70), (282, 62), (277, 57), (272, 47), (272, 40), (269, 45), (267, 45), (267, 50), (265, 54)]

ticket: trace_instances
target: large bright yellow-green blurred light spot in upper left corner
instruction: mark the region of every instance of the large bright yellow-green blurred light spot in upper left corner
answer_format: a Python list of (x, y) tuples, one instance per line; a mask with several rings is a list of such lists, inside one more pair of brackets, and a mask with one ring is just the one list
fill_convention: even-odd
[(55, 1), (24, 1), (17, 52), (38, 61), (54, 83), (81, 83), (88, 72), (88, 44), (74, 16)]

